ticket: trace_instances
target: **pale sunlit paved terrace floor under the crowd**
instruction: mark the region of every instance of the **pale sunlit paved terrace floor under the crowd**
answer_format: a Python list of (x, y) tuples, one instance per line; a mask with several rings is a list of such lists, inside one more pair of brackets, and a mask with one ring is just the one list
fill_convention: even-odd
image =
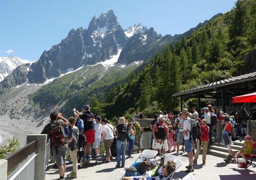
[[(175, 152), (172, 153), (176, 155)], [(128, 167), (139, 157), (140, 153), (133, 154), (133, 159), (127, 159), (125, 166)], [(188, 165), (186, 153), (179, 155), (182, 161), (182, 166), (175, 172), (173, 178), (183, 178), (187, 173), (185, 166)], [(78, 169), (77, 180), (119, 180), (124, 174), (124, 168), (115, 168), (116, 160), (111, 163), (102, 163), (101, 161), (95, 164), (91, 161), (90, 167)], [(52, 165), (50, 165), (51, 167)], [(236, 163), (227, 164), (222, 158), (207, 155), (206, 165), (202, 164), (202, 155), (199, 156), (198, 164), (195, 164), (195, 172), (193, 175), (196, 180), (255, 180), (256, 168), (250, 166), (248, 170), (238, 168)], [(72, 171), (72, 163), (67, 164), (66, 175)], [(57, 168), (52, 168), (46, 172), (46, 180), (57, 179), (59, 177)], [(65, 179), (69, 179), (66, 177)]]

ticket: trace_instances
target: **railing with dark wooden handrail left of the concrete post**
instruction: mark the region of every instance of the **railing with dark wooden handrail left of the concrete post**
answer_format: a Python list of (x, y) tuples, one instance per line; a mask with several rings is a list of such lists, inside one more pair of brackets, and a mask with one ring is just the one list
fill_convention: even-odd
[(33, 180), (37, 141), (34, 140), (6, 157), (7, 180)]

